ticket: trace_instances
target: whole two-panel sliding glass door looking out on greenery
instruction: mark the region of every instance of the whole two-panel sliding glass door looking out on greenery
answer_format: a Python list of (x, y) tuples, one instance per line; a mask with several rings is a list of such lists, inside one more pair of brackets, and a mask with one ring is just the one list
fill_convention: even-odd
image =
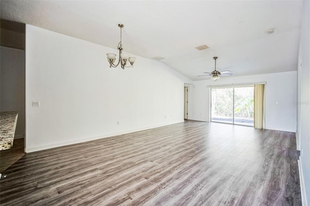
[(211, 88), (211, 121), (254, 126), (254, 86)]

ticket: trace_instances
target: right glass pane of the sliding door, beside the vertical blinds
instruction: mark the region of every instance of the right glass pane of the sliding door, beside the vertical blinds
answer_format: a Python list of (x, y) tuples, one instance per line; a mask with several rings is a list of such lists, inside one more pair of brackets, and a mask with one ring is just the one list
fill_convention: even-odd
[(234, 124), (254, 126), (254, 87), (234, 88)]

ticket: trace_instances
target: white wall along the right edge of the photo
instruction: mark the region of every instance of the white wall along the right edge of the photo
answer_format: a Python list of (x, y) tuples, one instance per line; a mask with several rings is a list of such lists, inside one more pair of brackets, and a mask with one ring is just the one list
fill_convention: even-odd
[(310, 1), (303, 4), (298, 58), (297, 149), (303, 205), (310, 204)]

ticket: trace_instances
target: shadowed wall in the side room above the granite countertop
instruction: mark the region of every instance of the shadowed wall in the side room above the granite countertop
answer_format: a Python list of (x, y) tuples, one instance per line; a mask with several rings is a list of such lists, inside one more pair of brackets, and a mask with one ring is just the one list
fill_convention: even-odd
[(0, 47), (1, 112), (17, 111), (15, 139), (25, 134), (25, 51)]

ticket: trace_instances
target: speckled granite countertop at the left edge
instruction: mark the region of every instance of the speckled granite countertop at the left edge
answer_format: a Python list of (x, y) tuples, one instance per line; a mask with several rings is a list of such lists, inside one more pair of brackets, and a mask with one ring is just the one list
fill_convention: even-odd
[(0, 150), (13, 146), (17, 116), (17, 112), (0, 113)]

